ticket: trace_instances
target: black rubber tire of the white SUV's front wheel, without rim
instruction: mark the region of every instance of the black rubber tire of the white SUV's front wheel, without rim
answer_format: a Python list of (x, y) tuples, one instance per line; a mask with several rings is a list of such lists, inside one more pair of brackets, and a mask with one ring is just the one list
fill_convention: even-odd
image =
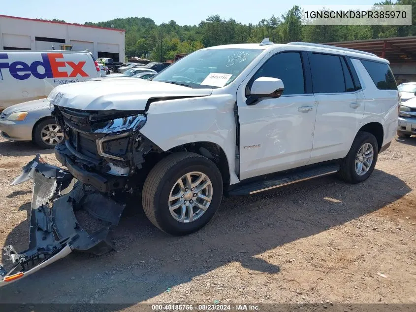
[[(172, 187), (183, 175), (201, 172), (212, 184), (212, 201), (206, 211), (196, 220), (177, 221), (168, 208)], [(191, 153), (178, 152), (163, 158), (150, 171), (142, 192), (143, 209), (149, 220), (160, 230), (171, 235), (186, 235), (199, 230), (214, 216), (223, 196), (223, 179), (217, 166), (208, 158)]]

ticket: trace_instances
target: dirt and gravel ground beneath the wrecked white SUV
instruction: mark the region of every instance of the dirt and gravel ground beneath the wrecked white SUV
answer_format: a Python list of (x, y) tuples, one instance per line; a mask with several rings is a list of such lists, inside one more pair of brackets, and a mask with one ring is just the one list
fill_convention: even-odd
[[(9, 184), (39, 152), (57, 164), (53, 150), (0, 139), (1, 245), (27, 246), (32, 182)], [(329, 176), (224, 199), (185, 237), (130, 205), (117, 252), (72, 253), (1, 288), (0, 302), (416, 303), (415, 155), (416, 138), (396, 139), (364, 183)]]

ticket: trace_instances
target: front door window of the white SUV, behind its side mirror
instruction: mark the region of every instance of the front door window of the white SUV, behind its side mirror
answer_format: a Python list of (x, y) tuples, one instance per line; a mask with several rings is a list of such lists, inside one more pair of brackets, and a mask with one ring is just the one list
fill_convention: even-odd
[(284, 95), (305, 93), (302, 59), (298, 52), (284, 52), (273, 55), (257, 70), (251, 79), (250, 87), (253, 81), (259, 77), (281, 79), (285, 85)]

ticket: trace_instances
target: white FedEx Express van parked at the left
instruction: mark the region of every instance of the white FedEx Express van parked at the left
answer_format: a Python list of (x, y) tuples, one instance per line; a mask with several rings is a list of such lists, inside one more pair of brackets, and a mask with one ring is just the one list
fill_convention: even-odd
[(101, 76), (91, 52), (7, 50), (1, 54), (0, 111), (46, 98), (56, 86)]

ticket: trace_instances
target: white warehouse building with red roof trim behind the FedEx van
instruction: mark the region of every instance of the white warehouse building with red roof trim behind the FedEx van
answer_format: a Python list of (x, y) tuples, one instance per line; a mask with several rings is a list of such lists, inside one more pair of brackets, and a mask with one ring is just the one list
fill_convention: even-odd
[(95, 58), (125, 60), (125, 30), (0, 15), (0, 50), (90, 51)]

